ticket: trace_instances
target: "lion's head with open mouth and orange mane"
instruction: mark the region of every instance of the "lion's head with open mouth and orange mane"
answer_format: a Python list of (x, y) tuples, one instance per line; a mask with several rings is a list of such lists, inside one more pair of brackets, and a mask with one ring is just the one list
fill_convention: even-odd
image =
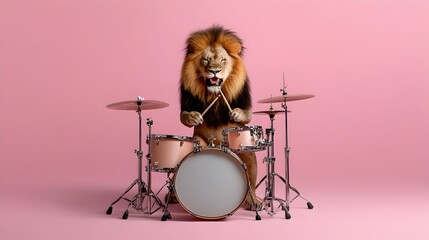
[(220, 88), (229, 101), (236, 98), (248, 81), (241, 39), (213, 26), (192, 33), (186, 43), (181, 87), (203, 102), (214, 99)]

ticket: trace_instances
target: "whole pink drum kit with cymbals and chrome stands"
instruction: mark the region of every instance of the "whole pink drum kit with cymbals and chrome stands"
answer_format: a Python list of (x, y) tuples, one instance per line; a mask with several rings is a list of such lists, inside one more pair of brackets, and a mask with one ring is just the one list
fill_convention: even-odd
[[(312, 98), (314, 95), (289, 95), (284, 85), (281, 92), (281, 96), (258, 101), (258, 103), (270, 103), (269, 110), (254, 112), (254, 114), (268, 115), (270, 118), (270, 128), (265, 130), (266, 138), (264, 138), (261, 126), (227, 128), (222, 131), (223, 141), (219, 146), (214, 144), (214, 139), (209, 139), (208, 146), (203, 147), (192, 137), (152, 134), (153, 120), (148, 118), (146, 121), (148, 126), (146, 182), (142, 179), (142, 111), (165, 108), (169, 105), (161, 101), (144, 100), (141, 97), (133, 101), (108, 105), (109, 109), (137, 112), (139, 148), (135, 150), (138, 159), (137, 178), (121, 196), (110, 204), (106, 214), (112, 214), (113, 205), (120, 200), (125, 200), (128, 202), (128, 207), (122, 215), (123, 219), (128, 218), (129, 208), (132, 207), (147, 215), (152, 215), (162, 209), (161, 220), (166, 221), (171, 219), (168, 206), (174, 195), (183, 209), (192, 216), (201, 219), (229, 217), (240, 208), (247, 194), (252, 196), (247, 167), (237, 154), (263, 150), (267, 152), (263, 160), (266, 164), (266, 174), (258, 182), (256, 188), (265, 182), (265, 196), (262, 203), (268, 215), (273, 216), (278, 209), (281, 209), (285, 212), (285, 218), (290, 219), (289, 205), (298, 197), (307, 201), (307, 207), (312, 209), (312, 203), (290, 184), (287, 102)], [(274, 109), (273, 103), (280, 103), (282, 109)], [(278, 114), (285, 114), (284, 177), (275, 172), (274, 120)], [(156, 193), (152, 189), (152, 172), (167, 173), (166, 183)], [(275, 195), (276, 177), (285, 184), (285, 199)], [(132, 198), (126, 197), (135, 186), (137, 186), (137, 194)], [(167, 187), (168, 193), (162, 201), (158, 195), (164, 187)], [(296, 193), (293, 199), (290, 197), (290, 190)], [(255, 202), (253, 197), (252, 201)], [(260, 220), (258, 210), (255, 210), (255, 213), (256, 220)]]

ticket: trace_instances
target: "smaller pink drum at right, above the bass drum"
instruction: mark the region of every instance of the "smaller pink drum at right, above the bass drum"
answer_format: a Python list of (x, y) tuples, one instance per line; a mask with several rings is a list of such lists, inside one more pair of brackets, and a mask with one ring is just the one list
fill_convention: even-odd
[(265, 149), (261, 126), (227, 128), (222, 131), (224, 145), (233, 152), (256, 152)]

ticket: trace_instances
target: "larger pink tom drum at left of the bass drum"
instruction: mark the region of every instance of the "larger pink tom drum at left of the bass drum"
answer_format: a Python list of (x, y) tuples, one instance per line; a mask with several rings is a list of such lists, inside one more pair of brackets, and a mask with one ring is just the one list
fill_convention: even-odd
[(194, 150), (195, 138), (173, 135), (151, 135), (151, 169), (172, 172), (188, 153)]

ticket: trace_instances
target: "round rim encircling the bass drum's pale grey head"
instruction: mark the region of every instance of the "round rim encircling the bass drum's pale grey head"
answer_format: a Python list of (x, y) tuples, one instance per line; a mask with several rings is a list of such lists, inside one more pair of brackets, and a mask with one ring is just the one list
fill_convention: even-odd
[(238, 157), (237, 154), (235, 154), (233, 151), (231, 151), (228, 148), (225, 147), (211, 147), (211, 146), (205, 146), (205, 147), (201, 147), (199, 150), (194, 150), (188, 154), (186, 154), (186, 156), (177, 164), (176, 168), (174, 169), (174, 176), (173, 176), (173, 184), (174, 186), (176, 185), (176, 176), (177, 176), (177, 171), (179, 171), (180, 166), (182, 165), (182, 163), (188, 159), (191, 155), (202, 152), (202, 151), (223, 151), (225, 153), (230, 154), (235, 160), (238, 161), (238, 163), (241, 166), (241, 170), (244, 172), (245, 175), (245, 181), (246, 181), (246, 194), (244, 194), (243, 200), (241, 200), (240, 204), (230, 213), (222, 215), (222, 216), (216, 216), (216, 217), (207, 217), (207, 216), (202, 216), (199, 215), (197, 213), (192, 212), (190, 209), (188, 209), (184, 203), (182, 203), (182, 201), (179, 198), (179, 194), (177, 194), (176, 191), (176, 187), (173, 188), (174, 194), (176, 195), (177, 201), (179, 202), (180, 206), (183, 207), (183, 209), (185, 209), (186, 212), (188, 212), (189, 214), (191, 214), (194, 217), (197, 218), (201, 218), (201, 219), (205, 219), (205, 220), (219, 220), (219, 219), (223, 219), (226, 217), (230, 217), (232, 216), (238, 209), (240, 209), (240, 207), (243, 205), (244, 201), (246, 200), (246, 196), (249, 193), (249, 176), (247, 173), (247, 168), (246, 165), (244, 164), (244, 162)]

